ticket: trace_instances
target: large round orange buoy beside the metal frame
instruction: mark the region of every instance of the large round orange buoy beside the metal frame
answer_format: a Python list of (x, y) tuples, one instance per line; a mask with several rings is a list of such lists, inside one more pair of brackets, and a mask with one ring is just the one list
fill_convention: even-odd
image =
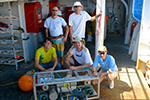
[(33, 89), (33, 78), (30, 75), (23, 75), (18, 81), (18, 86), (22, 91), (31, 91)]

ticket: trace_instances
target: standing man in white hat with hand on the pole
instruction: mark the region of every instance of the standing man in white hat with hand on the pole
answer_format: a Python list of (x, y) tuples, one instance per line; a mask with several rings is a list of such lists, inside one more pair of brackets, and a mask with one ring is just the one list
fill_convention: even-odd
[(86, 11), (83, 10), (83, 6), (79, 1), (76, 1), (72, 7), (74, 13), (69, 16), (69, 26), (70, 26), (70, 39), (71, 42), (74, 41), (76, 36), (85, 38), (85, 26), (86, 21), (94, 21), (97, 17), (101, 15), (101, 12), (98, 15), (91, 17)]

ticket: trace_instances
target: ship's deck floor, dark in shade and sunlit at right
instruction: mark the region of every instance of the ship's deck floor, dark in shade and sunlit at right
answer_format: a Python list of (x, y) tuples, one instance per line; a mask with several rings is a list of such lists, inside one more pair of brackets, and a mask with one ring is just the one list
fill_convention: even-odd
[[(113, 55), (119, 73), (115, 79), (115, 87), (110, 90), (109, 82), (104, 79), (100, 85), (100, 100), (149, 100), (150, 89), (143, 74), (136, 70), (135, 62), (131, 61), (128, 55), (129, 46), (123, 43), (123, 37), (107, 36), (105, 44), (108, 54)], [(86, 43), (92, 58), (94, 58), (94, 43)], [(24, 66), (24, 67), (23, 67)], [(33, 91), (23, 92), (19, 89), (17, 81), (28, 70), (33, 69), (33, 62), (29, 64), (20, 63), (19, 71), (15, 66), (0, 65), (0, 98), (1, 100), (31, 100)], [(12, 83), (14, 82), (14, 83)], [(8, 84), (12, 83), (12, 84)], [(94, 88), (96, 88), (94, 86)]]

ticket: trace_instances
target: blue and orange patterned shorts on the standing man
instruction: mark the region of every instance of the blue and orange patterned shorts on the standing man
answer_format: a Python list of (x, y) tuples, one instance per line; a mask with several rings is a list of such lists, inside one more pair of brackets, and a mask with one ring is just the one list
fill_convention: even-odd
[(53, 47), (56, 49), (57, 56), (63, 57), (64, 55), (64, 42), (62, 41), (63, 38), (60, 39), (53, 39), (54, 44)]

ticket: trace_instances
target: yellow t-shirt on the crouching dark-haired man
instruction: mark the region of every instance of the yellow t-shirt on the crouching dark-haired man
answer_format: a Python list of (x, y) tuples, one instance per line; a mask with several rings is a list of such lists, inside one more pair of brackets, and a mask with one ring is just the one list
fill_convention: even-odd
[(56, 58), (56, 50), (54, 47), (50, 47), (47, 52), (44, 50), (44, 46), (36, 51), (35, 59), (39, 60), (40, 63), (49, 63), (52, 58)]

